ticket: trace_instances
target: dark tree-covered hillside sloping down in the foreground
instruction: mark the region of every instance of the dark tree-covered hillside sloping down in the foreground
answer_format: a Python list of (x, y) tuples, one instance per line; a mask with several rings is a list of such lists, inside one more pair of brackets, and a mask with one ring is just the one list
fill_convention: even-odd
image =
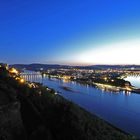
[(0, 68), (0, 140), (132, 140), (39, 84), (19, 83)]

